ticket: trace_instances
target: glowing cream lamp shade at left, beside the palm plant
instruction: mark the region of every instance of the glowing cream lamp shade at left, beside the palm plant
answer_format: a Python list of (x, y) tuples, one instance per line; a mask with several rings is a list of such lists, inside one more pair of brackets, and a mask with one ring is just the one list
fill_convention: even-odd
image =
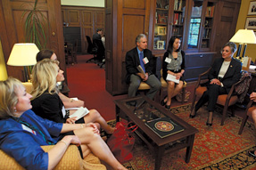
[(19, 43), (12, 47), (12, 52), (7, 61), (10, 66), (32, 66), (37, 63), (36, 56), (39, 52), (37, 45)]

